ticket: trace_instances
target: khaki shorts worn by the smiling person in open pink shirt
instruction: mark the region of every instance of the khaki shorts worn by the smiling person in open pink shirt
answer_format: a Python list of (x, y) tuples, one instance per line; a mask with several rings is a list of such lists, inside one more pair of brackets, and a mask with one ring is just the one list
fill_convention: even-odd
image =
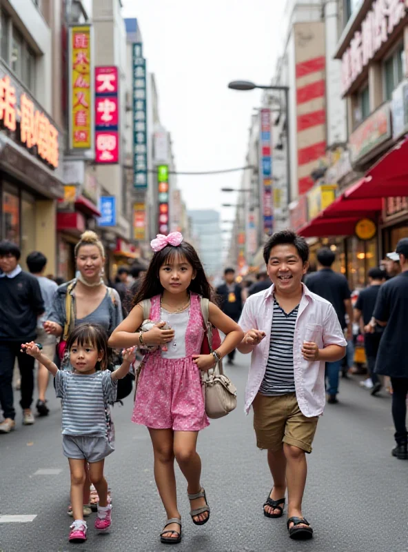
[(312, 452), (318, 416), (308, 418), (300, 412), (296, 393), (276, 397), (258, 393), (252, 406), (258, 449), (278, 451), (287, 443)]

